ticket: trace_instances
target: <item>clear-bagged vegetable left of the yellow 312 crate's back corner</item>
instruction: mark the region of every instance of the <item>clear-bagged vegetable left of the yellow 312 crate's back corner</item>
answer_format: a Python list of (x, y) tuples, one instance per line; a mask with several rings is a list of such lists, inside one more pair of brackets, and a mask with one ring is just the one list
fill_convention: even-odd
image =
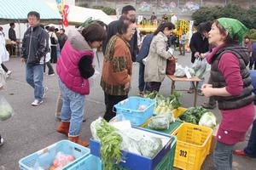
[(148, 123), (148, 127), (154, 130), (164, 130), (169, 128), (168, 115), (157, 115), (153, 116), (151, 122)]

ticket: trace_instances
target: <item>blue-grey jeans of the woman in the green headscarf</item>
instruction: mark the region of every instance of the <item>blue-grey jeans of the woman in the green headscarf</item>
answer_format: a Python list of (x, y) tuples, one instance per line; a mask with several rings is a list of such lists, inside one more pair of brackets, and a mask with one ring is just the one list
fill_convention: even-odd
[(224, 144), (217, 141), (213, 152), (213, 163), (216, 170), (232, 169), (232, 150), (235, 144)]

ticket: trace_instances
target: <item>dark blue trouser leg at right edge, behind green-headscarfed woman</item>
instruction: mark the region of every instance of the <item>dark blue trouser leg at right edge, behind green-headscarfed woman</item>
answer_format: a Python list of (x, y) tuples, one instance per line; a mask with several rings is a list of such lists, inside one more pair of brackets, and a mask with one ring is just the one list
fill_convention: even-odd
[(253, 121), (253, 128), (250, 135), (250, 139), (244, 151), (247, 154), (247, 156), (256, 157), (256, 119)]

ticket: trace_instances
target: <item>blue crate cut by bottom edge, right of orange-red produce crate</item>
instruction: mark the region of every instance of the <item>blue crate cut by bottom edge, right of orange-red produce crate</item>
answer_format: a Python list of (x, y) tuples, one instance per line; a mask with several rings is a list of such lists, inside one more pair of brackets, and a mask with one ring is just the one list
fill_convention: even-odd
[(97, 156), (89, 155), (67, 167), (67, 170), (102, 170), (102, 161)]

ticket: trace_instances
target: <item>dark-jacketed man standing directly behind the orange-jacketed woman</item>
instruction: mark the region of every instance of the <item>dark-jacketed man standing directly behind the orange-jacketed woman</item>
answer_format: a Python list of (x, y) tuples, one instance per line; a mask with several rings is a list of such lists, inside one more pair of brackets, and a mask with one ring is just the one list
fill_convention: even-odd
[[(126, 19), (131, 20), (132, 22), (136, 21), (136, 9), (131, 5), (127, 5), (124, 8), (122, 8), (122, 15), (119, 20), (126, 20)], [(118, 20), (114, 20), (108, 25), (108, 37), (102, 43), (103, 54), (105, 54), (108, 40), (114, 35), (116, 35), (117, 33), (117, 26), (118, 26)], [(129, 43), (130, 43), (131, 58), (132, 58), (132, 61), (135, 62), (136, 55), (137, 55), (137, 31), (135, 31)]]

